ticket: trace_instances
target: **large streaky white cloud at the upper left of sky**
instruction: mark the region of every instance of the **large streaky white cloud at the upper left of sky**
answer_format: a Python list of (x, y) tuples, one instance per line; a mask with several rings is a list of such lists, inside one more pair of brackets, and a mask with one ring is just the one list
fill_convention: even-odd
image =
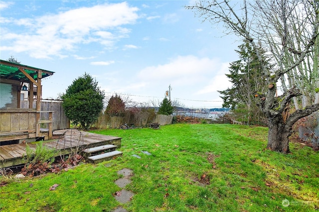
[(137, 11), (137, 7), (122, 2), (81, 7), (35, 18), (1, 18), (1, 23), (19, 25), (20, 32), (12, 30), (1, 35), (0, 48), (29, 52), (34, 58), (49, 58), (63, 57), (64, 51), (75, 50), (78, 45), (90, 42), (112, 47), (117, 40), (128, 36), (131, 30), (122, 26), (134, 24), (139, 18)]

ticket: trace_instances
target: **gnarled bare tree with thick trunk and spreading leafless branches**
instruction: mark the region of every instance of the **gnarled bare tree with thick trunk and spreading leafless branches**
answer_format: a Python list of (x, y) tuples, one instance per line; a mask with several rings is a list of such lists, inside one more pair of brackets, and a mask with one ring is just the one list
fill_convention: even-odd
[[(238, 1), (236, 1), (238, 2)], [(291, 101), (302, 92), (292, 80), (286, 85), (288, 75), (304, 63), (316, 44), (319, 36), (319, 10), (317, 0), (256, 0), (248, 4), (232, 4), (229, 0), (197, 1), (186, 6), (195, 14), (212, 24), (224, 25), (226, 34), (234, 33), (248, 40), (262, 63), (263, 57), (257, 44), (260, 44), (273, 59), (271, 70), (262, 66), (268, 74), (268, 91), (256, 95), (260, 97), (259, 106), (268, 118), (268, 144), (273, 151), (289, 153), (289, 136), (293, 124), (302, 117), (319, 110), (319, 103), (289, 113)], [(301, 14), (298, 16), (297, 14)], [(315, 18), (314, 18), (315, 14)], [(298, 19), (300, 27), (292, 23)], [(302, 27), (304, 26), (304, 27)], [(306, 32), (301, 39), (291, 33)], [(288, 53), (294, 55), (289, 57)], [(310, 61), (311, 62), (311, 61)], [(277, 83), (283, 87), (283, 95), (277, 97)]]

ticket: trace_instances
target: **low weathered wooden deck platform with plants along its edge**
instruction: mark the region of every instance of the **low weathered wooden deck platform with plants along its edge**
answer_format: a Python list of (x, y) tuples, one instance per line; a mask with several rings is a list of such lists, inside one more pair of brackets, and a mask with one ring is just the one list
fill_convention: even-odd
[[(43, 142), (43, 145), (58, 150), (56, 156), (70, 154), (72, 151), (82, 151), (86, 148), (113, 144), (121, 147), (121, 137), (101, 135), (79, 130), (56, 130), (56, 139)], [(11, 167), (22, 164), (21, 159), (26, 154), (26, 145), (35, 150), (36, 144), (20, 143), (0, 146), (0, 167)]]

